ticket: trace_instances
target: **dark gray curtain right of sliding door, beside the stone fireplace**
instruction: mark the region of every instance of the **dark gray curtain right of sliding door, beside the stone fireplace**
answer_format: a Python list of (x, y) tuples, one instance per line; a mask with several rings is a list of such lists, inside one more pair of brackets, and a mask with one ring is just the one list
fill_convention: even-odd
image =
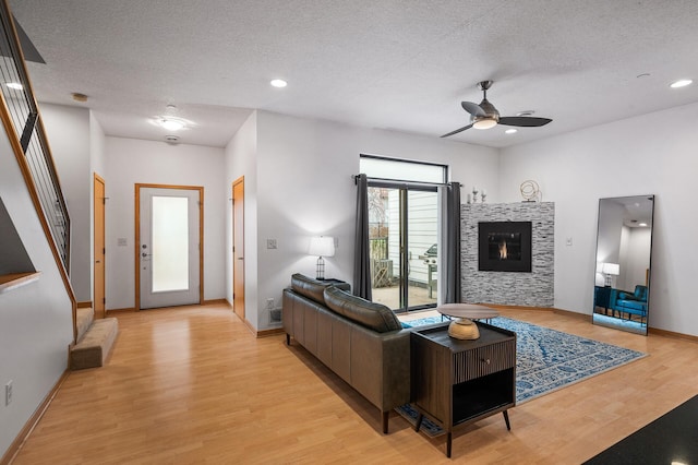
[(446, 194), (446, 301), (460, 302), (460, 182), (448, 184)]

